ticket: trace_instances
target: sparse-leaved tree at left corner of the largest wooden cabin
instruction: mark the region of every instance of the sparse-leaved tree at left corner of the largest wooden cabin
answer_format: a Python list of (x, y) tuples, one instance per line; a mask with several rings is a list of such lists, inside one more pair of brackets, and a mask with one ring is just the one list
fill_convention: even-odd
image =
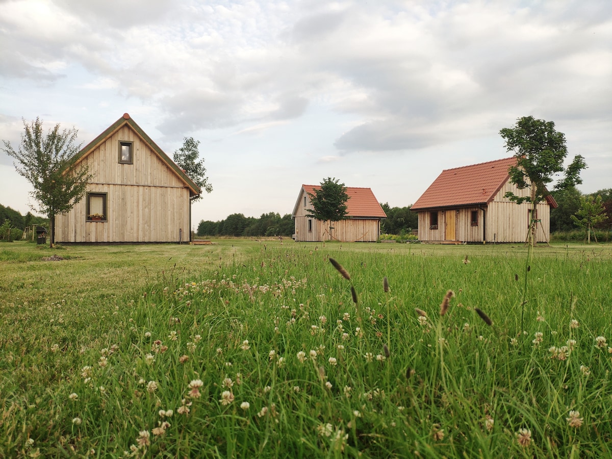
[(31, 124), (23, 120), (24, 133), (21, 144), (15, 151), (10, 142), (2, 141), (6, 154), (12, 156), (17, 172), (28, 179), (34, 187), (32, 198), (39, 204), (30, 205), (33, 211), (47, 215), (50, 220), (50, 245), (55, 242), (55, 216), (65, 214), (85, 194), (87, 182), (92, 175), (89, 167), (76, 166), (76, 154), (81, 145), (75, 144), (78, 130), (59, 130), (59, 124), (43, 133), (42, 120), (36, 118)]

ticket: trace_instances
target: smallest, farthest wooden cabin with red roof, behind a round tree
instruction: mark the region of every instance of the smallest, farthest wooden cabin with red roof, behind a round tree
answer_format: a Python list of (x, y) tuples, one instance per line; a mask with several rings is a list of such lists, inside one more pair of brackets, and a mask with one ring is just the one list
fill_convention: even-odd
[(293, 239), (300, 242), (340, 241), (376, 242), (380, 236), (381, 220), (387, 218), (383, 207), (376, 200), (370, 188), (346, 187), (349, 200), (346, 201), (349, 218), (338, 222), (321, 222), (308, 215), (314, 207), (308, 193), (315, 194), (320, 185), (302, 185), (297, 196), (292, 217), (295, 222)]

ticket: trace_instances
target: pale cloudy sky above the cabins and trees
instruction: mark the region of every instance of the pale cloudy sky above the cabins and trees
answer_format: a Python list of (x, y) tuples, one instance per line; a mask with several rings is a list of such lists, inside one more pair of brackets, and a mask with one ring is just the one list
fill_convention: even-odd
[[(89, 143), (125, 112), (172, 157), (200, 140), (200, 220), (293, 210), (336, 177), (408, 206), (442, 169), (554, 121), (612, 187), (610, 0), (0, 0), (0, 138), (22, 118)], [(31, 188), (0, 152), (0, 204)]]

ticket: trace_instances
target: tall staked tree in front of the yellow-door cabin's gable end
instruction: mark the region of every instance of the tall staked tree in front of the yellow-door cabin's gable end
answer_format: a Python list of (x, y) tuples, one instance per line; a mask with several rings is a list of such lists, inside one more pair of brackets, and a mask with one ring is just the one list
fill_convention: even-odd
[[(567, 156), (565, 134), (554, 129), (554, 122), (532, 116), (519, 118), (514, 127), (504, 128), (499, 134), (506, 140), (506, 150), (514, 152), (517, 157), (517, 165), (511, 166), (509, 170), (510, 181), (518, 188), (530, 190), (529, 196), (507, 192), (506, 197), (517, 204), (531, 203), (531, 215), (535, 215), (537, 203), (550, 194), (546, 185), (553, 181), (554, 174), (564, 170), (563, 162)], [(578, 157), (572, 165), (580, 165)], [(536, 218), (530, 218), (530, 245), (535, 244), (536, 223)]]

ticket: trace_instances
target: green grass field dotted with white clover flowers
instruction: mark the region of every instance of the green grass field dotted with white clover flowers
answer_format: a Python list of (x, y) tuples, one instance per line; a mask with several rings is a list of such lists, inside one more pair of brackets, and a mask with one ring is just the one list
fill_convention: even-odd
[(0, 457), (611, 457), (611, 297), (612, 245), (2, 244)]

